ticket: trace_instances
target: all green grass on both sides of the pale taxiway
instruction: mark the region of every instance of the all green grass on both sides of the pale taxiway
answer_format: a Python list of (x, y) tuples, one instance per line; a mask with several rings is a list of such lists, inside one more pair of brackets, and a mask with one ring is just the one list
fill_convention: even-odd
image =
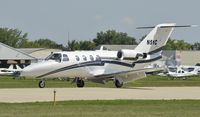
[[(0, 77), (0, 88), (38, 87), (36, 79)], [(124, 85), (148, 86), (200, 86), (200, 77), (187, 80), (168, 80), (161, 76), (148, 76)], [(47, 80), (46, 87), (76, 87), (71, 81)], [(86, 87), (114, 87), (86, 81)], [(200, 100), (96, 100), (36, 103), (0, 103), (0, 117), (199, 117)]]

